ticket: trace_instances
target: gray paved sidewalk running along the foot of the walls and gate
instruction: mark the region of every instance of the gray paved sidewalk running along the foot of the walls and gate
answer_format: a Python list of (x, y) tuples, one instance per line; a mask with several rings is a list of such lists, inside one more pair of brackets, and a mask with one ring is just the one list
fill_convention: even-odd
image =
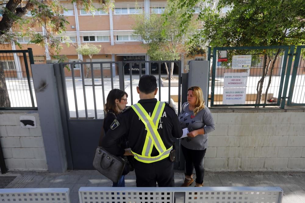
[[(71, 203), (78, 203), (80, 187), (111, 187), (112, 182), (95, 170), (70, 170), (65, 173), (9, 172), (16, 176), (5, 188), (69, 187)], [(183, 171), (175, 171), (175, 186), (184, 180)], [(135, 173), (125, 177), (126, 187), (135, 187)], [(275, 172), (218, 172), (206, 171), (205, 186), (278, 186), (284, 190), (282, 203), (305, 202), (305, 173)], [(192, 184), (194, 186), (194, 183)]]

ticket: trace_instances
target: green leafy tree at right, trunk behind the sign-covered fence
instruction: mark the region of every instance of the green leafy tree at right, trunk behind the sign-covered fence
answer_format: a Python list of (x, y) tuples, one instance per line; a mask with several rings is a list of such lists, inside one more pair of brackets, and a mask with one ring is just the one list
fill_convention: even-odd
[[(191, 10), (199, 0), (178, 0), (178, 7)], [(205, 1), (213, 3), (213, 1)], [(221, 15), (222, 8), (229, 8)], [(183, 16), (180, 29), (192, 19), (191, 13)], [(303, 0), (220, 0), (215, 9), (202, 7), (198, 20), (202, 30), (193, 41), (202, 40), (211, 47), (299, 45), (305, 43), (305, 1)], [(257, 83), (257, 101), (260, 103), (267, 73), (271, 84), (275, 60), (281, 53), (263, 50), (263, 71)], [(264, 98), (266, 103), (267, 97)]]

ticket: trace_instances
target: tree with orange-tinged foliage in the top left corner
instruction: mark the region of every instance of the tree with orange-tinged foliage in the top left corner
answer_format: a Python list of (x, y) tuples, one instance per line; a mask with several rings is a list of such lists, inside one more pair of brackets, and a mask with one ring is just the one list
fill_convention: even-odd
[[(94, 13), (97, 10), (92, 0), (70, 0), (82, 7), (88, 12)], [(101, 8), (105, 12), (113, 8), (114, 0), (99, 0)], [(68, 21), (63, 16), (66, 10), (60, 4), (59, 0), (9, 0), (3, 3), (5, 7), (0, 9), (2, 18), (0, 19), (0, 44), (11, 43), (14, 41), (18, 46), (20, 44), (16, 37), (30, 37), (30, 43), (44, 46), (48, 44), (50, 52), (59, 53), (61, 48), (60, 41), (53, 39), (52, 34), (59, 34), (65, 31)], [(27, 16), (27, 13), (31, 16)], [(36, 29), (44, 27), (44, 34), (36, 32)], [(20, 46), (21, 47), (21, 46)], [(4, 70), (0, 66), (0, 107), (10, 107), (9, 94), (5, 84)]]

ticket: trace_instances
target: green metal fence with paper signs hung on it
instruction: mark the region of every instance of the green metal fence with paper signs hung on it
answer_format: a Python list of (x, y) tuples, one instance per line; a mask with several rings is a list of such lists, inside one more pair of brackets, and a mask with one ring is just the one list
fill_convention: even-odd
[(304, 47), (213, 48), (211, 107), (305, 105)]

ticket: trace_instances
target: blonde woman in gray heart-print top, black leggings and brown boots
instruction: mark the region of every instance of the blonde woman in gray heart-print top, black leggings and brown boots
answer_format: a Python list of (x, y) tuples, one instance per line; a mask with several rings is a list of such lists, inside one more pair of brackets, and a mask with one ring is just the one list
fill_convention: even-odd
[(188, 137), (181, 138), (181, 149), (185, 157), (185, 180), (181, 187), (188, 187), (196, 171), (195, 187), (203, 186), (203, 158), (208, 145), (208, 133), (215, 130), (212, 114), (204, 105), (202, 89), (188, 88), (187, 102), (182, 104), (179, 121), (182, 128), (188, 128)]

